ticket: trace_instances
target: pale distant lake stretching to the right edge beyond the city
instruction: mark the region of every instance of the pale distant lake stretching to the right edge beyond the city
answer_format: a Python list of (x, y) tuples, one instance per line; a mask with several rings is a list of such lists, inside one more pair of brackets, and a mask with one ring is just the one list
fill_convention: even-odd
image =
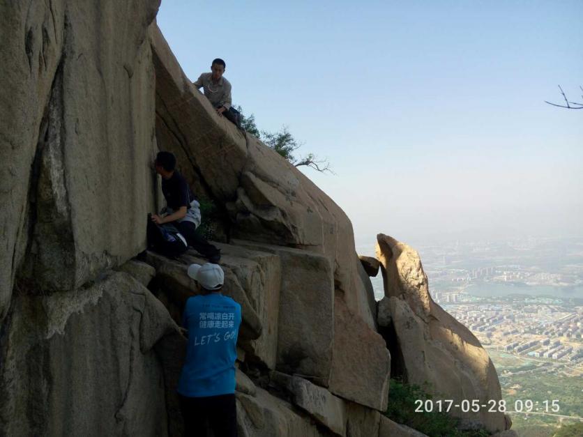
[(482, 282), (479, 284), (471, 284), (465, 291), (472, 296), (478, 296), (480, 298), (522, 294), (526, 296), (552, 296), (554, 298), (563, 299), (583, 299), (583, 286), (492, 284)]

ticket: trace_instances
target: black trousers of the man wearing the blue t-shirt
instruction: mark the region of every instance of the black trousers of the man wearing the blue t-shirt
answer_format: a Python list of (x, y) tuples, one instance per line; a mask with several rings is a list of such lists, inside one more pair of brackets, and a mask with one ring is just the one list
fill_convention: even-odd
[(237, 436), (237, 409), (234, 394), (209, 397), (185, 397), (179, 394), (185, 437), (206, 437), (211, 429), (215, 437)]

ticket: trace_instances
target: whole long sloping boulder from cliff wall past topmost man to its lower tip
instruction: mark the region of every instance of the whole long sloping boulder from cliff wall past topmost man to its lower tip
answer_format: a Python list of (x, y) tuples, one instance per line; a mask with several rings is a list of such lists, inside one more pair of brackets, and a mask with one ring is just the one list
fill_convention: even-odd
[(234, 238), (327, 256), (335, 289), (374, 328), (370, 291), (358, 275), (354, 233), (344, 211), (278, 153), (217, 116), (156, 26), (151, 40), (160, 149), (176, 154), (196, 194), (225, 207)]

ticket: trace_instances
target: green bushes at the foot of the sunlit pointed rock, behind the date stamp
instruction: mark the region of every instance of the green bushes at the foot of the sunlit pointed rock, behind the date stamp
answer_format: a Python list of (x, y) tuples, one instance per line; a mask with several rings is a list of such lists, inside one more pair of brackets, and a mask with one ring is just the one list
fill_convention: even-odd
[[(409, 385), (391, 378), (388, 391), (388, 408), (386, 417), (394, 422), (407, 425), (427, 434), (429, 437), (486, 437), (490, 433), (485, 429), (460, 430), (457, 425), (460, 420), (447, 413), (432, 411), (431, 413), (416, 412), (417, 399), (431, 399), (424, 388), (419, 385)], [(424, 386), (427, 387), (427, 386)]]

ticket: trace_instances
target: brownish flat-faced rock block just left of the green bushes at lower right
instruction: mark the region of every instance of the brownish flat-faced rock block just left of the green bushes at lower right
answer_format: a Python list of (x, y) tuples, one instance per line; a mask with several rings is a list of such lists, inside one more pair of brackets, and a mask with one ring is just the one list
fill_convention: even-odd
[(358, 404), (385, 411), (391, 355), (376, 331), (335, 298), (334, 349), (329, 389)]

